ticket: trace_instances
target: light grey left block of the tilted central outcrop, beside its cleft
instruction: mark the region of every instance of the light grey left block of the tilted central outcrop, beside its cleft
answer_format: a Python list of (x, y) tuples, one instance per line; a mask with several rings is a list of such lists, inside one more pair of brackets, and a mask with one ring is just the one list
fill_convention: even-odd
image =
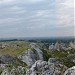
[(35, 62), (35, 54), (31, 49), (28, 49), (25, 53), (18, 58), (25, 62), (28, 66), (31, 66)]

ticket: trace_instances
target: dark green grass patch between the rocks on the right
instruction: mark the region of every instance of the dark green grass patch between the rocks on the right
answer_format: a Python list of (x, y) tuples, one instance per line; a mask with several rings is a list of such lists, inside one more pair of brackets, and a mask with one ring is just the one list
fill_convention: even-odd
[(67, 67), (72, 67), (75, 65), (75, 63), (73, 63), (71, 60), (65, 59), (68, 56), (67, 52), (50, 51), (50, 50), (44, 50), (44, 49), (42, 49), (42, 51), (44, 52), (44, 56), (45, 56), (46, 61), (48, 61), (49, 58), (56, 58), (56, 59), (58, 59), (58, 61), (60, 63), (62, 63), (63, 65), (65, 65)]

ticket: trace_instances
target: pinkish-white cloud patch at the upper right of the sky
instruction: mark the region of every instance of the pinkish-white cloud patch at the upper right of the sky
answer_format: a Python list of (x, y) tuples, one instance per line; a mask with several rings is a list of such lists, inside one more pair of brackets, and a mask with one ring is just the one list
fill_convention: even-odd
[(74, 1), (57, 0), (56, 4), (56, 22), (57, 26), (74, 25)]

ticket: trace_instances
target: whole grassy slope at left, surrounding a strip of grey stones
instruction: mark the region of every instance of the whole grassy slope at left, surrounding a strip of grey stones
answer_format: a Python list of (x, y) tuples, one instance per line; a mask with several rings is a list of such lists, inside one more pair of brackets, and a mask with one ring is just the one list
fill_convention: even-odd
[(7, 42), (0, 42), (0, 43), (6, 43), (6, 44), (16, 44), (18, 47), (9, 47), (9, 48), (0, 48), (0, 54), (9, 54), (13, 57), (21, 54), (23, 51), (27, 50), (29, 48), (29, 42), (27, 41), (7, 41)]

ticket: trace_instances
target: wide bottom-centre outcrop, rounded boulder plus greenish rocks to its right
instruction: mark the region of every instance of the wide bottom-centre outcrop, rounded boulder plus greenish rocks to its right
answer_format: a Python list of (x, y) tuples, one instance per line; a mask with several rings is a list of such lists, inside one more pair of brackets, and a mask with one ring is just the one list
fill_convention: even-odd
[(66, 67), (61, 64), (48, 64), (46, 61), (38, 60), (31, 68), (26, 69), (26, 75), (63, 75)]

